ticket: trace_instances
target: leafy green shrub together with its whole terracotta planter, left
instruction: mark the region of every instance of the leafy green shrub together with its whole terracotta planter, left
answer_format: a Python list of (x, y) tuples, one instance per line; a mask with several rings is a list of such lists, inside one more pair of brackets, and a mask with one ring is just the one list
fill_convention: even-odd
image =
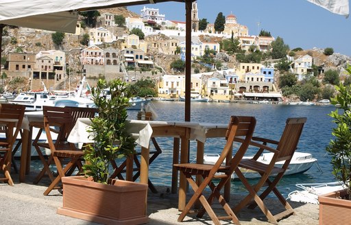
[(58, 213), (102, 224), (146, 223), (147, 185), (108, 179), (111, 161), (134, 153), (135, 141), (126, 123), (126, 84), (99, 80), (91, 94), (99, 115), (88, 129), (93, 144), (84, 150), (86, 176), (62, 178), (63, 207)]

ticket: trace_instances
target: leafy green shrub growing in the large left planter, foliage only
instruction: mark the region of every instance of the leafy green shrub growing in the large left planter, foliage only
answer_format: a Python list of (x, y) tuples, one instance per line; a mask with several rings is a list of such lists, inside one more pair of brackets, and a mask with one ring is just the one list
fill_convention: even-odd
[(135, 141), (126, 128), (130, 93), (121, 80), (99, 80), (91, 94), (99, 116), (92, 119), (88, 130), (94, 143), (88, 145), (84, 152), (84, 159), (88, 162), (84, 170), (96, 182), (106, 183), (110, 162), (134, 153)]

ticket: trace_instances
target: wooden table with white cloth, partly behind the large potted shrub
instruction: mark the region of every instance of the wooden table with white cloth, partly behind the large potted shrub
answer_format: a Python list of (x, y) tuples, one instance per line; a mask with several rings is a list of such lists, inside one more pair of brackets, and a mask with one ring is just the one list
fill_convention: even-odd
[[(90, 124), (91, 121), (88, 118), (77, 119), (67, 140), (71, 143), (93, 143), (93, 134), (87, 131)], [(197, 161), (201, 163), (203, 161), (206, 139), (226, 137), (227, 127), (228, 125), (226, 124), (187, 121), (128, 120), (128, 132), (132, 134), (136, 143), (141, 146), (140, 182), (147, 184), (149, 180), (149, 141), (152, 137), (173, 137), (173, 164), (188, 163), (189, 141), (197, 140)], [(132, 161), (132, 159), (130, 160)], [(127, 163), (126, 180), (132, 180), (132, 167), (132, 162)], [(177, 187), (178, 171), (172, 169), (172, 193), (176, 193)], [(178, 189), (179, 211), (182, 211), (186, 205), (186, 189), (186, 178), (183, 174), (180, 174)]]

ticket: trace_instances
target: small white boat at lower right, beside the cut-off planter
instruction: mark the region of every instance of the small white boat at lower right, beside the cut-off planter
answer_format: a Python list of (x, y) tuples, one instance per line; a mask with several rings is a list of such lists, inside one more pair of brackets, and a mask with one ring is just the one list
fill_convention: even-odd
[(299, 190), (289, 193), (288, 198), (293, 202), (304, 202), (319, 204), (318, 196), (330, 193), (333, 191), (341, 191), (345, 185), (342, 182), (325, 182), (325, 183), (310, 183), (296, 184)]

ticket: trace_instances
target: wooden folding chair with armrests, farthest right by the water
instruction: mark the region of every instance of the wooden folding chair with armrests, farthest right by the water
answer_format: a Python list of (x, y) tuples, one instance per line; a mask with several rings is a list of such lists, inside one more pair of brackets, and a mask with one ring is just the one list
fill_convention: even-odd
[[(250, 185), (240, 169), (235, 169), (235, 173), (249, 191), (249, 194), (237, 206), (234, 207), (233, 211), (235, 213), (238, 213), (241, 209), (243, 209), (243, 207), (247, 205), (250, 209), (254, 209), (256, 206), (258, 206), (263, 211), (263, 213), (265, 213), (269, 222), (274, 224), (278, 224), (278, 220), (282, 219), (282, 217), (286, 217), (294, 213), (293, 208), (280, 194), (276, 188), (276, 185), (289, 167), (293, 153), (298, 146), (298, 141), (300, 139), (304, 123), (306, 123), (305, 117), (287, 119), (285, 130), (282, 132), (280, 141), (273, 141), (260, 137), (252, 138), (252, 140), (260, 141), (263, 144), (252, 142), (253, 145), (259, 147), (258, 152), (251, 159), (243, 159), (239, 163), (239, 167), (257, 171), (261, 175), (261, 179), (255, 185)], [(267, 143), (273, 144), (276, 146), (276, 148), (267, 146)], [(274, 152), (274, 156), (269, 164), (264, 164), (257, 161), (257, 158), (261, 156), (264, 150)], [(282, 165), (282, 167), (276, 167), (275, 164), (280, 161), (285, 161), (285, 163)], [(271, 179), (273, 178), (273, 180), (270, 180), (269, 177), (271, 177)], [(265, 190), (261, 191), (261, 188), (263, 188), (264, 185), (267, 185), (267, 187)], [(258, 196), (258, 191), (261, 193), (260, 196)], [(276, 215), (273, 215), (267, 206), (263, 203), (263, 200), (268, 196), (269, 193), (271, 193), (271, 191), (273, 191), (280, 203), (285, 207), (285, 211), (282, 211)]]

